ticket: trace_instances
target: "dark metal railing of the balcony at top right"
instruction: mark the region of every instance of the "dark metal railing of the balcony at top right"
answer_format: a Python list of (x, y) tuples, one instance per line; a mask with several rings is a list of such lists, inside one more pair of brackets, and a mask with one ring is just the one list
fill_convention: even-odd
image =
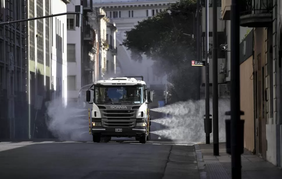
[(272, 0), (240, 0), (240, 15), (269, 14), (273, 10)]

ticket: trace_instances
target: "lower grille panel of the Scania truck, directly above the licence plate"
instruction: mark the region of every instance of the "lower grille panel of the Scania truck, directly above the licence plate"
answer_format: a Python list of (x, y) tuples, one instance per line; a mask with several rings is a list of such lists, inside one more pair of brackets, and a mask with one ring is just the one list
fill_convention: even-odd
[(129, 128), (135, 127), (136, 120), (102, 120), (102, 127)]

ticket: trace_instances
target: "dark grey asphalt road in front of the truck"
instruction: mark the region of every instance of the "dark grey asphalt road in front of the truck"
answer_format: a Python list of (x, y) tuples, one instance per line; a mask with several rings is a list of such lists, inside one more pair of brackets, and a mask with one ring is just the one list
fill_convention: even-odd
[(187, 145), (1, 142), (0, 178), (198, 179), (199, 171)]

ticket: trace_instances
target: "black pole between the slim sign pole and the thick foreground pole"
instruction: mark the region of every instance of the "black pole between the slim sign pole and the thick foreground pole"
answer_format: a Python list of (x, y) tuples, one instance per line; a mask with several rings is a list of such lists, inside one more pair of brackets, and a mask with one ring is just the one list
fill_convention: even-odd
[(213, 155), (219, 156), (217, 81), (217, 0), (213, 0)]

